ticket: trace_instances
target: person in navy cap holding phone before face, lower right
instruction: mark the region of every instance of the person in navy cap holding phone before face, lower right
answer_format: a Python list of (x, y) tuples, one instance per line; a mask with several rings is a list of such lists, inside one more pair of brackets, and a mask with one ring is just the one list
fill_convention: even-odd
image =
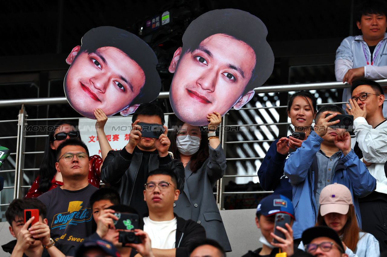
[[(281, 227), (276, 226), (277, 215), (287, 216), (289, 221), (283, 223)], [(297, 251), (293, 244), (293, 230), (291, 228), (294, 220), (295, 214), (290, 199), (281, 194), (266, 196), (257, 206), (255, 217), (255, 224), (262, 234), (259, 242), (263, 245), (255, 251), (248, 251), (242, 257), (275, 257), (279, 252), (286, 253), (287, 256), (293, 255), (295, 250)], [(282, 237), (279, 237), (277, 232), (280, 232)], [(274, 243), (274, 240), (277, 243)]]

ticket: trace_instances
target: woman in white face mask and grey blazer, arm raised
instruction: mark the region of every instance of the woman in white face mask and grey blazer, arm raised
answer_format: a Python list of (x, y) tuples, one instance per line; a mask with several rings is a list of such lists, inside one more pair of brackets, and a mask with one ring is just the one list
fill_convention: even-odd
[(173, 211), (180, 217), (197, 221), (207, 238), (215, 239), (226, 252), (231, 251), (226, 230), (212, 189), (226, 170), (219, 137), (215, 130), (222, 121), (217, 112), (207, 115), (208, 131), (179, 120), (170, 136), (170, 151), (185, 167), (185, 184)]

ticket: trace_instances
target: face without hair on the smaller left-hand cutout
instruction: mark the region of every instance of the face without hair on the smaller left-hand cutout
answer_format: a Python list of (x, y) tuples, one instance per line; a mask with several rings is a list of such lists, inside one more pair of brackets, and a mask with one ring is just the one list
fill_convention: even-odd
[(71, 64), (65, 77), (65, 94), (70, 105), (85, 117), (93, 118), (101, 108), (109, 117), (129, 107), (141, 92), (145, 74), (139, 64), (116, 47), (79, 52), (74, 47), (67, 57)]

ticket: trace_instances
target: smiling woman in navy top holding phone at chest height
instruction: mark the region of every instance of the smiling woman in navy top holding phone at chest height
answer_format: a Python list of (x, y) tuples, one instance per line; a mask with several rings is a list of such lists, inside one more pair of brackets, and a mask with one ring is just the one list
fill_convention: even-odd
[(283, 194), (291, 199), (292, 186), (284, 174), (284, 165), (289, 152), (301, 147), (312, 131), (311, 125), (317, 112), (316, 98), (309, 91), (297, 92), (290, 97), (286, 111), (295, 129), (294, 137), (281, 137), (272, 142), (258, 169), (258, 177), (264, 190), (273, 190), (274, 194)]

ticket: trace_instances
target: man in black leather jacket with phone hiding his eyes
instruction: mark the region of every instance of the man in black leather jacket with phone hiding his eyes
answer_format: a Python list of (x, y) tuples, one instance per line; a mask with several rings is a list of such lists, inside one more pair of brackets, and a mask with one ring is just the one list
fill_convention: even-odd
[(185, 174), (183, 164), (171, 159), (168, 153), (171, 142), (167, 137), (167, 127), (164, 126), (164, 133), (158, 139), (141, 137), (142, 128), (138, 122), (164, 125), (164, 113), (153, 103), (144, 103), (137, 108), (132, 117), (129, 142), (122, 150), (108, 153), (103, 162), (101, 180), (118, 191), (122, 204), (136, 208), (141, 217), (148, 212), (143, 192), (149, 172), (159, 166), (176, 172), (178, 189), (181, 190)]

